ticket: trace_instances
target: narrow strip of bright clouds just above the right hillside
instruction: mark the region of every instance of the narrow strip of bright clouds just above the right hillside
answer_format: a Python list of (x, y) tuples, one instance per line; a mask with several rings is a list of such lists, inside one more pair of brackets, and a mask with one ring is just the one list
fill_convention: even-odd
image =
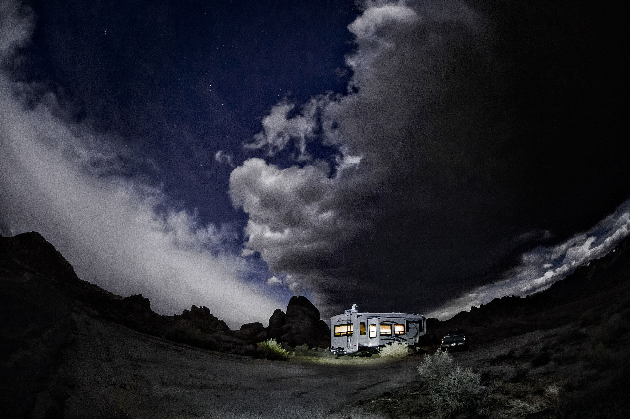
[(563, 243), (539, 247), (522, 256), (520, 266), (505, 273), (505, 278), (493, 284), (478, 287), (446, 302), (428, 316), (448, 319), (460, 311), (469, 311), (493, 298), (503, 296), (524, 297), (547, 289), (576, 268), (588, 265), (606, 255), (630, 232), (630, 201), (625, 202), (587, 232), (576, 234)]

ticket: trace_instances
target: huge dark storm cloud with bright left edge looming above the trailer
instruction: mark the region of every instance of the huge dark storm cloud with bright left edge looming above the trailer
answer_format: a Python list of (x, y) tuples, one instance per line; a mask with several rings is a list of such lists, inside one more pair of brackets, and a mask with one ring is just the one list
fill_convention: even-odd
[[(246, 146), (269, 155), (295, 149), (299, 165), (248, 159), (232, 171), (232, 203), (249, 215), (246, 248), (273, 273), (291, 275), (324, 313), (351, 302), (373, 312), (425, 313), (470, 284), (493, 284), (518, 255), (549, 243), (556, 227), (568, 226), (563, 239), (592, 224), (585, 220), (595, 212), (610, 211), (576, 198), (597, 193), (583, 185), (610, 182), (602, 175), (610, 159), (594, 162), (583, 151), (592, 147), (569, 147), (576, 135), (562, 127), (575, 121), (573, 102), (556, 95), (558, 86), (517, 74), (532, 62), (544, 66), (531, 70), (542, 71), (541, 79), (566, 74), (566, 62), (549, 66), (530, 47), (532, 37), (547, 45), (537, 28), (546, 23), (517, 3), (509, 18), (493, 16), (496, 8), (484, 2), (474, 7), (363, 2), (348, 26), (355, 37), (346, 57), (348, 94), (316, 96), (302, 107), (278, 103)], [(530, 32), (517, 33), (518, 25)], [(564, 122), (547, 117), (557, 110), (536, 113), (546, 97), (561, 103)], [(336, 147), (332, 167), (304, 158), (314, 141)], [(510, 289), (548, 285), (606, 251), (608, 237), (587, 234), (566, 250), (554, 248), (566, 261), (542, 258)], [(491, 298), (494, 286), (469, 292), (466, 301)]]

